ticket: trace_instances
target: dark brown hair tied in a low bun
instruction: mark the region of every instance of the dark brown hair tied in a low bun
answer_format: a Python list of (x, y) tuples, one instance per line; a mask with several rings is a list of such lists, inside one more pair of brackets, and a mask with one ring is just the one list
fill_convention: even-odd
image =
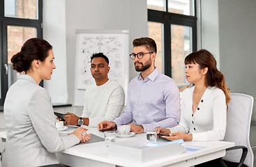
[(27, 40), (20, 52), (10, 59), (13, 63), (13, 70), (16, 70), (17, 72), (27, 72), (31, 67), (31, 62), (33, 60), (45, 61), (50, 49), (52, 49), (52, 45), (46, 40), (40, 38), (31, 38)]

